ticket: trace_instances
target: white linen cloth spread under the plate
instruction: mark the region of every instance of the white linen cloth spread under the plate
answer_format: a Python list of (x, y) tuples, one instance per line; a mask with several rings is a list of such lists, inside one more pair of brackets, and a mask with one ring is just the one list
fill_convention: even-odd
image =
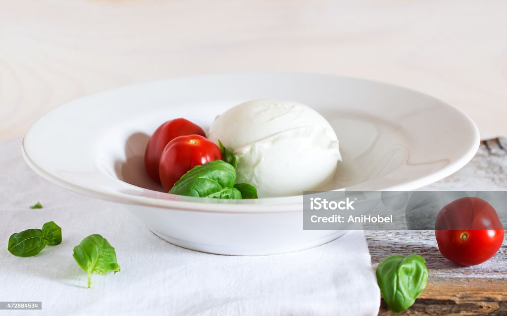
[[(235, 257), (183, 249), (155, 236), (121, 204), (42, 179), (24, 162), (20, 143), (19, 138), (0, 143), (0, 301), (42, 301), (42, 314), (52, 315), (378, 313), (380, 292), (363, 231), (283, 255)], [(28, 208), (38, 201), (44, 208)], [(12, 233), (48, 221), (62, 228), (60, 245), (28, 258), (8, 252)], [(72, 254), (94, 233), (115, 247), (121, 271), (93, 274), (88, 289), (87, 274)]]

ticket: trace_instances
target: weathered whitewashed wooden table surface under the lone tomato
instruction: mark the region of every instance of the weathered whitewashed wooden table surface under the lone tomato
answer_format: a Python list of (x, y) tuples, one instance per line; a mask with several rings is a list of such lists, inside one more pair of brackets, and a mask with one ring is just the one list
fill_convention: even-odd
[[(507, 191), (507, 146), (500, 146), (505, 142), (505, 138), (483, 142), (464, 168), (421, 190)], [(507, 315), (507, 239), (490, 260), (462, 267), (440, 254), (432, 230), (365, 231), (365, 235), (374, 268), (391, 255), (415, 253), (426, 259), (427, 287), (402, 315)], [(385, 303), (380, 314), (391, 314)]]

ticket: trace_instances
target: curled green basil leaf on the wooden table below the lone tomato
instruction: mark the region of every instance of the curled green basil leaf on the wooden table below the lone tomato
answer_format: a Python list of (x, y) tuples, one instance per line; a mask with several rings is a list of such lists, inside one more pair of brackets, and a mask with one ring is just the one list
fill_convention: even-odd
[(391, 256), (378, 265), (376, 275), (380, 293), (387, 306), (399, 313), (414, 304), (426, 287), (428, 269), (419, 255)]

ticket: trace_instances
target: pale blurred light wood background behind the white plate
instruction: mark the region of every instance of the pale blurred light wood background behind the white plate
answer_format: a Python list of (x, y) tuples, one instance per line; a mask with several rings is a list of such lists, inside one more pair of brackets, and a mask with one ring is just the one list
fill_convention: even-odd
[(0, 0), (0, 140), (89, 93), (234, 71), (399, 84), (507, 135), (507, 1)]

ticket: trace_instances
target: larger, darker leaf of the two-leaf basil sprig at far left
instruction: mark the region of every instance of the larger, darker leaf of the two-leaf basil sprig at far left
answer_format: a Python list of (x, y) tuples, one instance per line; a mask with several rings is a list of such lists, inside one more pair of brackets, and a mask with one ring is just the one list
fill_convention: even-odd
[(7, 250), (17, 257), (38, 255), (46, 247), (42, 236), (42, 230), (36, 228), (14, 233), (9, 238)]

